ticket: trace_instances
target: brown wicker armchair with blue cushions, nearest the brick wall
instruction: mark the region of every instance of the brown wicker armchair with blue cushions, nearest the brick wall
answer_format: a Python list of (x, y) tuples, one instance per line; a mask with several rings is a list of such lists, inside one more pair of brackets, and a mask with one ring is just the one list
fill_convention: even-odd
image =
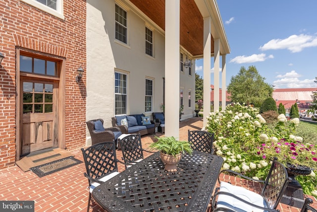
[(117, 138), (122, 134), (120, 131), (120, 128), (118, 127), (110, 127), (110, 128), (103, 128), (96, 130), (95, 128), (95, 123), (100, 121), (102, 125), (104, 124), (104, 120), (102, 119), (95, 119), (95, 120), (90, 120), (86, 122), (90, 136), (91, 136), (91, 144), (94, 145), (96, 143), (101, 143), (101, 142), (116, 142), (117, 145)]

